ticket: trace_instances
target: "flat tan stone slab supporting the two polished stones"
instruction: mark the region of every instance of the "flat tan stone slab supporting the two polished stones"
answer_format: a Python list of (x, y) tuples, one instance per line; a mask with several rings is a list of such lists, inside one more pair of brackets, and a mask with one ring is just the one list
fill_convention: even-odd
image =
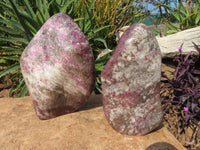
[(116, 132), (105, 119), (101, 95), (49, 120), (37, 118), (30, 97), (1, 98), (0, 139), (2, 150), (184, 150), (163, 126), (145, 136)]

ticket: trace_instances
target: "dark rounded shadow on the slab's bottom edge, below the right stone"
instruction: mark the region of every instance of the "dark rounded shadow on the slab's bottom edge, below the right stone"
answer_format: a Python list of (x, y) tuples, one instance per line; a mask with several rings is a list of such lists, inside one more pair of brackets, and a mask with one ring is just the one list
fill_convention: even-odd
[(178, 150), (178, 149), (169, 143), (157, 142), (157, 143), (151, 144), (145, 150)]

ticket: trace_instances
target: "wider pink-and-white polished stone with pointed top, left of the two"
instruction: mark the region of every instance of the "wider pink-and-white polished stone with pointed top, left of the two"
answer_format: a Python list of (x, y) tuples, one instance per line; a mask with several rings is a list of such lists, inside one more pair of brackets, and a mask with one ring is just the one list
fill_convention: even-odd
[(24, 50), (22, 73), (40, 119), (80, 108), (95, 82), (94, 58), (78, 25), (63, 13), (52, 16)]

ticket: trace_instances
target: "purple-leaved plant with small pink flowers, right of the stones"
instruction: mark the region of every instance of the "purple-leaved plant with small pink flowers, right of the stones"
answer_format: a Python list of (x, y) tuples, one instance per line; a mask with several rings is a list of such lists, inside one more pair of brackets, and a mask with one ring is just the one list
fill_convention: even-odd
[(189, 53), (184, 56), (182, 44), (178, 48), (180, 54), (173, 57), (177, 63), (173, 78), (162, 72), (162, 77), (166, 79), (164, 87), (161, 88), (163, 111), (169, 114), (172, 107), (176, 109), (179, 116), (176, 124), (179, 124), (180, 132), (184, 132), (184, 128), (191, 125), (195, 125), (198, 130), (200, 127), (200, 48), (193, 44), (199, 55), (193, 56)]

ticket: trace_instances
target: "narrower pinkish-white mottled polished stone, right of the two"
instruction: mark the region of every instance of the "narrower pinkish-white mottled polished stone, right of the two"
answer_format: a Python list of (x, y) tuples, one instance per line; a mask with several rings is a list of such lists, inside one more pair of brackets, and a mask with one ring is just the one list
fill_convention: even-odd
[(134, 24), (101, 73), (106, 119), (118, 132), (144, 135), (162, 121), (161, 52), (152, 31)]

